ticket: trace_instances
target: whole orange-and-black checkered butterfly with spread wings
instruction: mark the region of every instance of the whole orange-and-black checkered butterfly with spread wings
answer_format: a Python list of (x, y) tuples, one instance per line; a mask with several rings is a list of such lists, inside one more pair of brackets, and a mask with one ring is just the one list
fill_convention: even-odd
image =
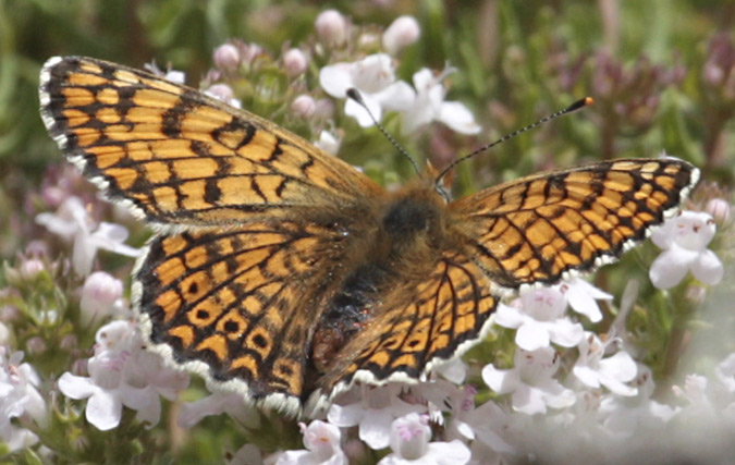
[(426, 379), (502, 295), (621, 256), (699, 171), (624, 159), (451, 200), (436, 172), (387, 192), (279, 127), (147, 72), (79, 57), (40, 73), (68, 159), (155, 230), (132, 302), (151, 348), (286, 412), (355, 381)]

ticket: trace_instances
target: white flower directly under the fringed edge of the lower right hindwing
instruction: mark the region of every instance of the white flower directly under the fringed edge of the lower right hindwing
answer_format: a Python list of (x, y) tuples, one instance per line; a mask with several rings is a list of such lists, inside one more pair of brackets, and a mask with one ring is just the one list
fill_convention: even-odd
[(370, 449), (380, 450), (390, 443), (391, 423), (408, 413), (426, 412), (421, 405), (403, 402), (399, 394), (401, 384), (387, 384), (369, 388), (357, 387), (362, 391), (359, 401), (348, 405), (333, 404), (327, 418), (333, 425), (350, 427), (358, 425), (359, 439)]

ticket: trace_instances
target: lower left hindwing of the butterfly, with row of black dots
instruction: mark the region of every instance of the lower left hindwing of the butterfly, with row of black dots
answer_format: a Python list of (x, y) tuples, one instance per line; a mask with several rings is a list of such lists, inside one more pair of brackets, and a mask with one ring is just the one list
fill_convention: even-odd
[(133, 301), (167, 358), (295, 412), (313, 322), (345, 246), (336, 231), (287, 221), (156, 235)]

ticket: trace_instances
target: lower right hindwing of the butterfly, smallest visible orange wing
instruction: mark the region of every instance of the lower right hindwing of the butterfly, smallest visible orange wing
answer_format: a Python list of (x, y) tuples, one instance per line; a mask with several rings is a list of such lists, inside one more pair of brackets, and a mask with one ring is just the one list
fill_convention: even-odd
[(322, 377), (321, 391), (338, 393), (353, 380), (421, 379), (482, 336), (498, 303), (490, 290), (482, 270), (457, 250), (441, 253), (425, 270), (400, 274), (382, 295), (375, 319)]

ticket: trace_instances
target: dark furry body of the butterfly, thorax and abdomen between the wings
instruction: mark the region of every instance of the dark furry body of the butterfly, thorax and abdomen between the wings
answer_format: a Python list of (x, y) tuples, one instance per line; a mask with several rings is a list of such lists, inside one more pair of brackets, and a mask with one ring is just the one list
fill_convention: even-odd
[(448, 245), (445, 201), (421, 181), (380, 205), (378, 224), (363, 245), (362, 260), (350, 266), (320, 315), (311, 343), (317, 371), (326, 372), (347, 355), (340, 352), (370, 325), (384, 304), (381, 297), (390, 295), (396, 281), (431, 269), (438, 257), (434, 252)]

